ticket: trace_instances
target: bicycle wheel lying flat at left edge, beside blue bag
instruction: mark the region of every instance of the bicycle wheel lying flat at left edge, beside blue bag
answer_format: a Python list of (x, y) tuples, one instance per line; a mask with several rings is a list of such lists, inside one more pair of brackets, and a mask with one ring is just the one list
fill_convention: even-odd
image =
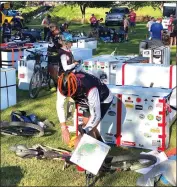
[(39, 125), (25, 122), (0, 122), (1, 134), (14, 136), (36, 136), (44, 135), (44, 129)]

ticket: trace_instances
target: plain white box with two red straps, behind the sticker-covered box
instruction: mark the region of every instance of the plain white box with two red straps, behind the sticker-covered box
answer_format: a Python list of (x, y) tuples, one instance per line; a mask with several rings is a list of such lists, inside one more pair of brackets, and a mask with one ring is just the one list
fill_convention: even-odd
[[(158, 64), (117, 64), (116, 85), (132, 85), (157, 88), (174, 88), (170, 99), (170, 105), (176, 107), (176, 65)], [(173, 121), (176, 111), (170, 114)]]

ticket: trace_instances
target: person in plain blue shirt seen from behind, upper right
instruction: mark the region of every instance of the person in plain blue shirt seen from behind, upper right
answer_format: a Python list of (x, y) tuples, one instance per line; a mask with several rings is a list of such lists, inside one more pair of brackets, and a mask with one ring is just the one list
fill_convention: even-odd
[(161, 18), (158, 18), (157, 21), (151, 26), (151, 39), (162, 40), (163, 26), (161, 23)]

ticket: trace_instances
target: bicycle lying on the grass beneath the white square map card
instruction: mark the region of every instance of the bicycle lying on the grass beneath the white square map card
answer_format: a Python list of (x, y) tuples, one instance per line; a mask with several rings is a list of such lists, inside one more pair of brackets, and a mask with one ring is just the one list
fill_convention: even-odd
[[(25, 145), (16, 145), (10, 148), (14, 151), (17, 156), (21, 158), (32, 158), (37, 159), (59, 159), (64, 161), (63, 170), (70, 165), (75, 165), (70, 161), (72, 156), (71, 151), (62, 148), (52, 148), (48, 146), (42, 146), (40, 144), (34, 145), (32, 148), (27, 148)], [(143, 160), (143, 161), (142, 161)], [(118, 155), (108, 156), (105, 158), (99, 173), (101, 172), (115, 172), (115, 171), (134, 171), (137, 169), (146, 168), (154, 165), (157, 162), (157, 158), (147, 154), (136, 154), (136, 155)], [(86, 186), (93, 185), (95, 176), (85, 171), (86, 175)]]

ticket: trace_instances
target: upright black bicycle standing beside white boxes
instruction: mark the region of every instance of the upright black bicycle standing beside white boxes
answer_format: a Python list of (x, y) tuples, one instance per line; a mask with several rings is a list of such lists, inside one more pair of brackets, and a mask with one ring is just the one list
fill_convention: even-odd
[(34, 99), (38, 96), (42, 87), (47, 87), (50, 90), (54, 86), (54, 80), (48, 71), (48, 63), (45, 68), (41, 65), (43, 60), (46, 60), (46, 58), (42, 59), (41, 57), (47, 57), (47, 55), (40, 54), (41, 51), (39, 50), (35, 52), (30, 50), (26, 51), (32, 53), (32, 58), (35, 60), (34, 72), (29, 84), (29, 96)]

